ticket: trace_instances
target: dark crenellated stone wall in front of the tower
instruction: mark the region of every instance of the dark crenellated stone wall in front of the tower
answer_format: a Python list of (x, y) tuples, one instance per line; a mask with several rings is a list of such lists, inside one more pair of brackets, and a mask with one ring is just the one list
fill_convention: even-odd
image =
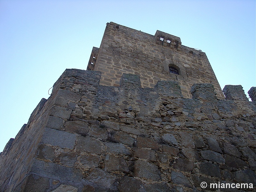
[(0, 155), (2, 191), (122, 192), (131, 182), (188, 191), (219, 178), (256, 185), (256, 105), (240, 86), (222, 100), (212, 84), (194, 84), (190, 99), (177, 81), (100, 80), (98, 71), (64, 71)]

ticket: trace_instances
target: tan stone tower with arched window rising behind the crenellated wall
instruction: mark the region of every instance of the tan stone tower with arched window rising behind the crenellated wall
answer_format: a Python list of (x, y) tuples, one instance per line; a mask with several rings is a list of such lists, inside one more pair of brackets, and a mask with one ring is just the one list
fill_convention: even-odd
[[(87, 70), (102, 73), (101, 85), (119, 86), (122, 74), (129, 73), (140, 76), (143, 88), (154, 88), (158, 81), (178, 81), (186, 98), (191, 98), (193, 84), (211, 83), (217, 97), (224, 99), (205, 53), (181, 45), (180, 37), (158, 30), (153, 36), (110, 22), (99, 50), (95, 50)], [(179, 75), (170, 73), (169, 67), (175, 67)]]

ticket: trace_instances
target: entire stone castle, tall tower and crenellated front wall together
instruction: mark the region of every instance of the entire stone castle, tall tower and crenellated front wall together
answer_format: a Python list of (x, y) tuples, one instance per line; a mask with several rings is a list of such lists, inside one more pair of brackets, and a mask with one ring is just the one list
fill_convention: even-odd
[(256, 87), (223, 92), (204, 52), (110, 22), (7, 143), (0, 191), (253, 191)]

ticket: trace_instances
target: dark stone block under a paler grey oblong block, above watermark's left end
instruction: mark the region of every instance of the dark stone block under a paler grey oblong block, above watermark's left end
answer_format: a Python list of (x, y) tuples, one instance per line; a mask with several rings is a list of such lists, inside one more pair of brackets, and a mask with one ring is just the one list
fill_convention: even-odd
[(199, 171), (206, 174), (210, 175), (212, 177), (218, 177), (221, 179), (220, 175), (220, 168), (218, 165), (212, 164), (210, 162), (202, 162), (199, 164)]

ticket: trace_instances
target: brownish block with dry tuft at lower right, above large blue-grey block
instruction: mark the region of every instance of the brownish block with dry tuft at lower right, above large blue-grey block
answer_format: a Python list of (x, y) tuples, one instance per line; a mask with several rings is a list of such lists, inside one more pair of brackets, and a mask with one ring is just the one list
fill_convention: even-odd
[(78, 133), (82, 136), (86, 136), (89, 132), (89, 127), (84, 121), (67, 121), (65, 124), (65, 131)]

